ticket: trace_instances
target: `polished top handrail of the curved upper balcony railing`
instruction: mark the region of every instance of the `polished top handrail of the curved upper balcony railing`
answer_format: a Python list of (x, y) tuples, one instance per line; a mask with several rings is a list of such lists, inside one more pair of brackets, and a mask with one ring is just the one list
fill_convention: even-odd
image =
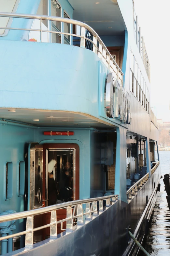
[[(92, 27), (90, 27), (89, 25), (87, 25), (87, 24), (85, 24), (83, 22), (72, 20), (72, 19), (67, 19), (67, 18), (62, 18), (62, 17), (48, 16), (48, 15), (35, 15), (35, 14), (32, 15), (32, 14), (9, 13), (9, 12), (0, 12), (0, 17), (12, 17), (12, 18), (24, 18), (24, 19), (59, 21), (59, 22), (64, 22), (64, 23), (69, 23), (69, 24), (74, 24), (74, 25), (77, 25), (77, 26), (84, 27), (90, 33), (92, 33), (93, 36), (97, 36), (97, 39), (98, 39), (99, 43), (102, 44), (103, 48), (106, 50), (107, 54), (110, 56), (110, 59), (113, 61), (114, 65), (118, 68), (120, 73), (123, 75), (123, 72), (121, 71), (121, 69), (118, 66), (118, 64), (116, 63), (116, 61), (111, 56), (110, 52), (107, 50), (106, 45), (103, 43), (103, 41), (101, 40), (99, 35), (94, 31), (94, 29)], [(38, 30), (38, 31), (40, 31), (40, 30)], [(50, 31), (47, 30), (46, 32), (50, 32)]]

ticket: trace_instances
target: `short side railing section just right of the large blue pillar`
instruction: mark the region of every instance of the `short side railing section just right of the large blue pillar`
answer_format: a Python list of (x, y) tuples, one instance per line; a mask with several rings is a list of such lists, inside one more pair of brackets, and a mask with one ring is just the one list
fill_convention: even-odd
[(145, 174), (144, 177), (139, 179), (133, 186), (131, 186), (126, 194), (127, 199), (132, 199), (132, 196), (135, 196), (136, 193), (146, 184), (146, 182), (149, 180), (149, 173)]

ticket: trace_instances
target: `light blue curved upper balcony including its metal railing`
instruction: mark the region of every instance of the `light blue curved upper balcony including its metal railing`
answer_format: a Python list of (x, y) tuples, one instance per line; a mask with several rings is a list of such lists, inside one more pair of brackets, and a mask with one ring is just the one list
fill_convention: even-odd
[[(10, 27), (0, 26), (6, 31), (6, 36), (0, 37), (1, 81), (4, 85), (0, 108), (65, 111), (69, 117), (71, 112), (79, 112), (107, 118), (104, 103), (106, 75), (112, 72), (123, 85), (123, 73), (90, 26), (53, 16), (0, 12), (0, 17), (13, 18), (13, 21), (21, 19), (18, 27), (14, 27), (15, 22)], [(32, 26), (28, 22), (30, 27), (28, 24), (23, 27), (25, 20), (30, 20)], [(39, 28), (33, 26), (35, 20), (38, 20)], [(42, 21), (79, 26), (80, 34), (53, 31), (51, 26), (44, 29)], [(27, 33), (28, 40), (23, 40), (21, 34), (14, 37), (18, 32)], [(29, 35), (33, 32), (39, 36), (39, 42), (25, 42), (30, 41)], [(47, 43), (42, 40), (44, 33), (48, 34)], [(70, 42), (73, 37), (79, 38), (80, 47), (63, 41), (52, 43), (52, 34), (69, 36)], [(5, 114), (0, 111), (0, 116)], [(15, 120), (19, 119), (16, 117)]]

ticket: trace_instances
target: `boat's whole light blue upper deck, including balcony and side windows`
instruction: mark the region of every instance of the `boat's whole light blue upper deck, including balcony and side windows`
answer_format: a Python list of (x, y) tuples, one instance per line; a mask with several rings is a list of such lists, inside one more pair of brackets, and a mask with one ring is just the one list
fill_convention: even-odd
[[(131, 123), (129, 130), (148, 135), (145, 126), (150, 123), (150, 84), (140, 51), (131, 36), (132, 31), (134, 33), (132, 1), (127, 1), (132, 12), (130, 26), (129, 21), (126, 22), (127, 15), (122, 16), (121, 1), (102, 0), (97, 4), (94, 1), (42, 0), (35, 1), (34, 5), (31, 1), (27, 4), (23, 0), (13, 2), (16, 14), (0, 14), (3, 25), (0, 29), (1, 81), (5, 87), (1, 98), (2, 118), (8, 116), (8, 119), (35, 124), (34, 119), (38, 119), (41, 112), (43, 118), (39, 118), (38, 125), (53, 125), (51, 116), (57, 125), (63, 125), (62, 118), (68, 119), (69, 125), (78, 123), (80, 126), (128, 128), (126, 123)], [(28, 42), (33, 38), (36, 42)], [(134, 61), (133, 90), (129, 87), (130, 49)], [(140, 73), (138, 78), (136, 67), (137, 74)], [(120, 99), (116, 97), (114, 116), (108, 116), (106, 110), (109, 73), (119, 81), (121, 92)], [(123, 93), (129, 95), (124, 105)], [(11, 114), (8, 108), (20, 110)], [(121, 117), (119, 108), (126, 111), (125, 117)], [(43, 111), (48, 113), (46, 117)]]

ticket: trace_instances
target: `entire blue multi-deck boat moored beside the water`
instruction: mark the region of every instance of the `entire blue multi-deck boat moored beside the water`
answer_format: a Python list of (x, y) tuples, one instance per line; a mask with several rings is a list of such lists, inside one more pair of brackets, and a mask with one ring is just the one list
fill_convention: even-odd
[(136, 255), (159, 190), (132, 0), (0, 1), (1, 255)]

